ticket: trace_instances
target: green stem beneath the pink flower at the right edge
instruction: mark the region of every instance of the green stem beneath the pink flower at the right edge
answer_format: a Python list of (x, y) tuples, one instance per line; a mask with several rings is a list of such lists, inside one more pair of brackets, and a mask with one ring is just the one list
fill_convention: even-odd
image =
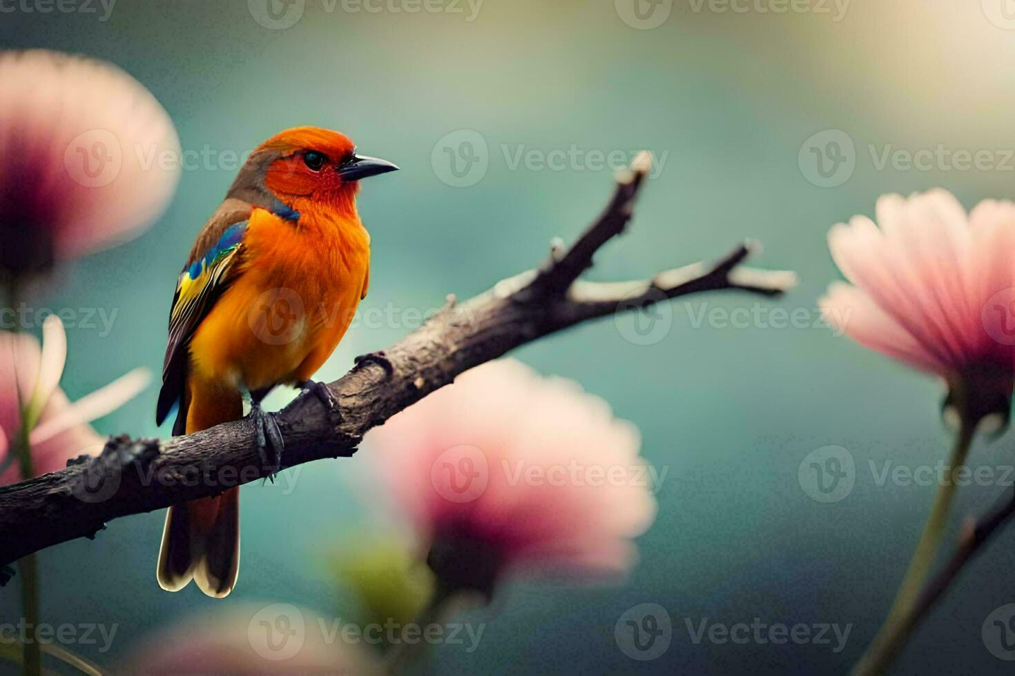
[(888, 612), (888, 618), (867, 649), (864, 657), (853, 668), (853, 674), (857, 676), (885, 673), (909, 637), (915, 625), (915, 610), (920, 598), (920, 590), (923, 589), (937, 557), (945, 526), (948, 523), (948, 512), (955, 498), (957, 475), (969, 453), (975, 427), (974, 422), (963, 417), (955, 439), (955, 446), (952, 448), (948, 465), (948, 478), (938, 486), (938, 494), (934, 498), (931, 514), (924, 526), (924, 532), (920, 536), (920, 542), (917, 543), (909, 569), (898, 588), (895, 602)]

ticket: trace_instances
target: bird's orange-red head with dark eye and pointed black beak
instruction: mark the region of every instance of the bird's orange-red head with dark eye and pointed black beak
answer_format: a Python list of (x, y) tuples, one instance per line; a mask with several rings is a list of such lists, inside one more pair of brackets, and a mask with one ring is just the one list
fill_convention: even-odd
[(358, 154), (344, 134), (294, 127), (251, 153), (228, 197), (276, 212), (331, 208), (354, 214), (359, 179), (397, 169), (387, 160)]

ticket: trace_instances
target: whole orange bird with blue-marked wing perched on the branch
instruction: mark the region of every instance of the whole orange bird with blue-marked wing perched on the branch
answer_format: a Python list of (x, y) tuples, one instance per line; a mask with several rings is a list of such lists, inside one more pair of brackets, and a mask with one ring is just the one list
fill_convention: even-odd
[[(261, 401), (280, 383), (333, 404), (311, 380), (342, 339), (369, 282), (370, 236), (356, 213), (359, 179), (398, 169), (356, 154), (338, 132), (289, 129), (255, 150), (205, 223), (173, 298), (158, 395), (173, 434), (243, 417), (251, 398), (258, 450), (277, 470), (282, 436)], [(226, 596), (240, 571), (240, 489), (171, 507), (158, 584), (193, 578)]]

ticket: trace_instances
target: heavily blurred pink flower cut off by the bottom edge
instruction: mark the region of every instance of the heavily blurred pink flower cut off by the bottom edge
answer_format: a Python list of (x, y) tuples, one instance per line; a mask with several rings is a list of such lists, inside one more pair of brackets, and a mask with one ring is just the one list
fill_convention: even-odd
[[(337, 623), (336, 623), (337, 622)], [(380, 674), (366, 627), (288, 603), (240, 603), (143, 640), (123, 674)]]

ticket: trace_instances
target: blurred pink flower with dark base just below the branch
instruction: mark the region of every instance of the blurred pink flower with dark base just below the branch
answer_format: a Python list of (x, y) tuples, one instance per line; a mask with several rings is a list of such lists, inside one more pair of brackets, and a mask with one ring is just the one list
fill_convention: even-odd
[(577, 383), (516, 361), (468, 371), (369, 440), (446, 590), (489, 595), (525, 569), (623, 574), (655, 518), (636, 429)]

